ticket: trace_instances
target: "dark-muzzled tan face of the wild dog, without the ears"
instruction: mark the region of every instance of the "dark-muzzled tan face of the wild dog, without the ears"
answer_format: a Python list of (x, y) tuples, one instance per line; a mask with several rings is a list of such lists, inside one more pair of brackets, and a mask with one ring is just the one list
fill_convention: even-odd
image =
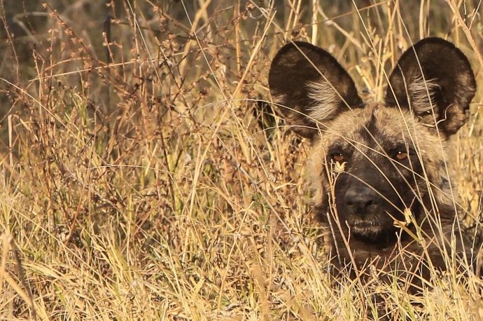
[[(405, 209), (419, 212), (426, 184), (423, 156), (411, 130), (423, 133), (427, 142), (434, 140), (409, 113), (373, 104), (335, 118), (316, 142), (314, 150), (323, 158), (311, 159), (311, 172), (321, 171), (314, 188), (321, 187), (323, 193), (335, 187), (332, 203), (354, 238), (384, 243), (395, 234), (394, 221), (405, 220)], [(320, 214), (330, 205), (325, 195), (318, 203)]]

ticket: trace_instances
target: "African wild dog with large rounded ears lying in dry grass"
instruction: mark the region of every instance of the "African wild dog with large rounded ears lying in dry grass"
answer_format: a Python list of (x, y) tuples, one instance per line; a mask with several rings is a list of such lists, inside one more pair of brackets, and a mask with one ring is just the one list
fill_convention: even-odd
[(461, 50), (419, 41), (388, 76), (384, 102), (365, 103), (332, 55), (288, 43), (272, 61), (269, 89), (286, 123), (311, 142), (314, 210), (330, 228), (336, 266), (412, 273), (470, 258), (444, 152), (476, 90)]

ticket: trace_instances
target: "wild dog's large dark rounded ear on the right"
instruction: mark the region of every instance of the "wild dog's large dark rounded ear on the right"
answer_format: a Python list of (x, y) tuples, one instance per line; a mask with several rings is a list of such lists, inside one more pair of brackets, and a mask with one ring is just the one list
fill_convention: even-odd
[(400, 57), (389, 77), (386, 104), (411, 109), (449, 136), (468, 121), (475, 91), (468, 58), (448, 41), (426, 38)]

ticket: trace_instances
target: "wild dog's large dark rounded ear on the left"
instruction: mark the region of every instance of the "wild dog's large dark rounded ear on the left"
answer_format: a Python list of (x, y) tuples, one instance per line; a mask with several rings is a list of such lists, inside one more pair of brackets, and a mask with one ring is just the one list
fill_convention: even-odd
[(279, 50), (268, 83), (287, 123), (304, 137), (314, 137), (317, 123), (362, 104), (351, 76), (337, 60), (306, 42), (288, 43)]

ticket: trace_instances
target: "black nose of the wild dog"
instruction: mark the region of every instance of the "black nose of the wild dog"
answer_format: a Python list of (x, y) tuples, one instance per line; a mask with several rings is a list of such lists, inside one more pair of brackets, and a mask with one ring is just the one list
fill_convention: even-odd
[(352, 186), (344, 195), (344, 202), (349, 214), (360, 217), (374, 213), (380, 200), (379, 193), (369, 186)]

